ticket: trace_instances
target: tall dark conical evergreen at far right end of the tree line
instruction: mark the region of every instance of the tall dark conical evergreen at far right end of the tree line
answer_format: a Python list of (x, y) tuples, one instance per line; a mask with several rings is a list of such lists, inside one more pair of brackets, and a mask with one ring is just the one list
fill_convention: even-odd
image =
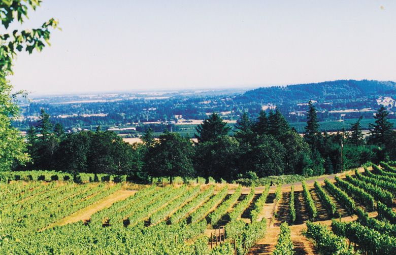
[[(389, 112), (382, 105), (378, 110), (377, 114), (374, 116), (374, 124), (370, 123), (370, 137), (369, 143), (387, 146), (393, 142), (394, 133), (392, 131), (393, 124), (389, 122)], [(394, 144), (393, 144), (394, 145)]]

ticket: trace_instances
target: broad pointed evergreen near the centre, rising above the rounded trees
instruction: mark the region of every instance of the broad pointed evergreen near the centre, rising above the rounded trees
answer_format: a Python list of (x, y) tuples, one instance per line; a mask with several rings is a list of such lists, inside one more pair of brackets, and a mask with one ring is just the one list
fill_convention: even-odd
[(198, 142), (215, 141), (218, 137), (228, 134), (231, 128), (217, 113), (213, 113), (204, 122), (198, 125), (194, 134)]

